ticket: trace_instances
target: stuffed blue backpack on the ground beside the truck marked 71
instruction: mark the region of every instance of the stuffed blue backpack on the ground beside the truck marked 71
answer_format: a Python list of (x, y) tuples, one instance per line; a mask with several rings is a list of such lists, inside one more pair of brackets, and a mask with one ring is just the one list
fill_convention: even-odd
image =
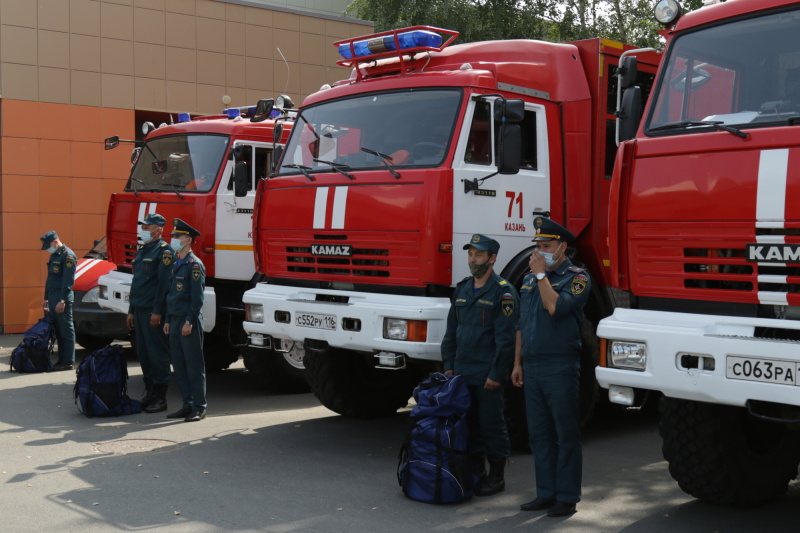
[(417, 405), (400, 450), (397, 481), (403, 493), (428, 503), (472, 497), (467, 410), (470, 394), (463, 376), (431, 374), (414, 389)]

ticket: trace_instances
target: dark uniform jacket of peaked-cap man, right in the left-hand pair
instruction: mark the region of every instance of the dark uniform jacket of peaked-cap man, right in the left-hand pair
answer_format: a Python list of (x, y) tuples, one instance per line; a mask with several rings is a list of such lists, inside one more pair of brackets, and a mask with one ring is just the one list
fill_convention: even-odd
[(172, 278), (167, 293), (167, 319), (174, 318), (194, 323), (203, 307), (203, 290), (206, 287), (206, 267), (191, 251), (183, 259), (173, 262)]

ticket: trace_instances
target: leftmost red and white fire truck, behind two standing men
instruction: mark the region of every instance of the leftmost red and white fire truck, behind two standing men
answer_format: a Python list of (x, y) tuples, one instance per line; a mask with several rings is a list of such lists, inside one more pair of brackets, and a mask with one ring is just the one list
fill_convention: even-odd
[[(252, 241), (255, 184), (273, 168), (276, 143), (285, 140), (294, 111), (286, 97), (259, 106), (226, 109), (223, 115), (179, 115), (175, 124), (143, 126), (144, 143), (135, 148), (133, 167), (123, 192), (113, 194), (108, 209), (108, 256), (118, 265), (99, 280), (98, 302), (128, 312), (131, 260), (136, 255), (137, 222), (157, 212), (180, 218), (200, 231), (194, 253), (206, 267), (203, 306), (206, 368), (220, 370), (236, 361), (243, 343), (242, 294), (255, 274)], [(106, 149), (119, 144), (106, 140)], [(279, 388), (305, 386), (302, 351), (243, 352), (247, 368)]]

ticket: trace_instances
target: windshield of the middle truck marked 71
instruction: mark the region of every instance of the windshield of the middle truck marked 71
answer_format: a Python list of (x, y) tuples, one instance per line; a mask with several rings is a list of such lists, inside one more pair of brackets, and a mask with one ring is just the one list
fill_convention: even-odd
[(370, 93), (304, 109), (279, 174), (441, 165), (461, 95), (460, 89)]

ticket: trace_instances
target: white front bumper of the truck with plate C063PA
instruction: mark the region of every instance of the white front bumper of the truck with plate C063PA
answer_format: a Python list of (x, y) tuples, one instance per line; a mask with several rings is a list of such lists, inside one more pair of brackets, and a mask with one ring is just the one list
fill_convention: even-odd
[[(800, 405), (800, 387), (726, 377), (728, 356), (789, 361), (800, 370), (800, 342), (753, 336), (755, 329), (800, 330), (800, 321), (616, 309), (600, 321), (602, 339), (644, 342), (644, 371), (597, 367), (597, 381), (663, 392), (672, 398), (744, 406), (748, 400)], [(683, 354), (713, 357), (714, 370), (685, 368)], [(608, 364), (611, 365), (609, 357)], [(795, 383), (800, 378), (795, 375)]]

